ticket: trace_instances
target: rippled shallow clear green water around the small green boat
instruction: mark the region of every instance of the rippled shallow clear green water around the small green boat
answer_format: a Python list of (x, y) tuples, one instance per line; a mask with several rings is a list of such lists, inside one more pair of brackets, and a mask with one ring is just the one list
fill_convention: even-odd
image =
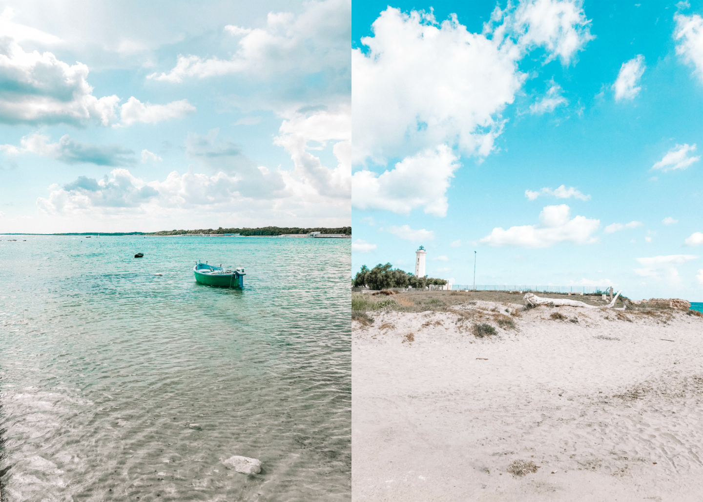
[(0, 236), (3, 500), (349, 500), (350, 248)]

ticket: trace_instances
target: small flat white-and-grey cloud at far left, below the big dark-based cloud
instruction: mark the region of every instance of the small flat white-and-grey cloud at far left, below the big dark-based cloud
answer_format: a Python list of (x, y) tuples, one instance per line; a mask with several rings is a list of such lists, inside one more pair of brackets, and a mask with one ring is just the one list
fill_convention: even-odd
[[(120, 145), (93, 145), (73, 140), (65, 134), (58, 142), (49, 143), (51, 138), (43, 134), (30, 134), (20, 140), (20, 146), (0, 145), (11, 156), (37, 154), (62, 161), (65, 164), (89, 163), (97, 166), (129, 166), (134, 164), (134, 152)], [(143, 154), (142, 154), (143, 157)]]

